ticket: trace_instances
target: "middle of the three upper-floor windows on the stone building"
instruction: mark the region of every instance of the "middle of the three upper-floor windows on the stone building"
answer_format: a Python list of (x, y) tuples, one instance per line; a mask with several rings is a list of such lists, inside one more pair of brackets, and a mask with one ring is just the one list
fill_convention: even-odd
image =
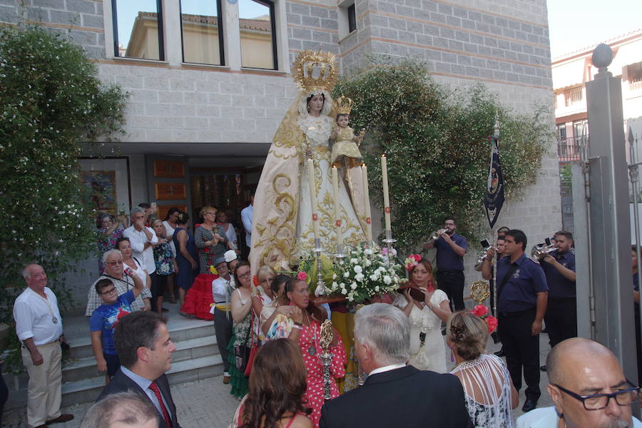
[(180, 33), (183, 62), (225, 63), (220, 0), (180, 0)]

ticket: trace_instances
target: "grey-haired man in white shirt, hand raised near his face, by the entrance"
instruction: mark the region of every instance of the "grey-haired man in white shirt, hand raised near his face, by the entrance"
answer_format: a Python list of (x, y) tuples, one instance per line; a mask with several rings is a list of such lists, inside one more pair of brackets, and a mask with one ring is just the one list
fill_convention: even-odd
[(153, 311), (160, 313), (163, 310), (161, 307), (162, 302), (160, 302), (161, 305), (158, 305), (156, 299), (158, 293), (163, 292), (163, 290), (158, 290), (158, 277), (156, 277), (153, 249), (153, 246), (158, 244), (158, 237), (152, 228), (145, 225), (145, 210), (143, 208), (132, 208), (130, 215), (131, 226), (125, 229), (123, 236), (129, 238), (132, 257), (138, 259), (151, 278), (151, 307)]

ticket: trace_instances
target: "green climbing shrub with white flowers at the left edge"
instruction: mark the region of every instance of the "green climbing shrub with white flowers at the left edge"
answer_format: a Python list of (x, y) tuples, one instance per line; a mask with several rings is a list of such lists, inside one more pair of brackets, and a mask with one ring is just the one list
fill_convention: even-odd
[(77, 156), (81, 143), (121, 131), (125, 100), (68, 39), (37, 26), (0, 29), (0, 322), (13, 322), (26, 263), (43, 265), (68, 302), (61, 275), (96, 239)]

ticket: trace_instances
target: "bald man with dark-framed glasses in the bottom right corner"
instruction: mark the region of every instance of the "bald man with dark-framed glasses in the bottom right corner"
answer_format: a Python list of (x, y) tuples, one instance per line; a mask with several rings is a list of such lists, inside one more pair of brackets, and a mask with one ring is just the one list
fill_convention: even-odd
[(554, 407), (517, 419), (517, 428), (642, 428), (631, 416), (640, 387), (629, 382), (613, 352), (574, 337), (556, 345), (546, 359)]

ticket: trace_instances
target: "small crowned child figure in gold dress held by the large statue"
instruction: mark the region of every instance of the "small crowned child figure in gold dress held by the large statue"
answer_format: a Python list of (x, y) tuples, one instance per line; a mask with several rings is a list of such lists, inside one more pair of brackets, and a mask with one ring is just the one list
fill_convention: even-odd
[(358, 143), (361, 143), (365, 131), (361, 131), (355, 136), (355, 131), (348, 126), (348, 123), (350, 123), (350, 111), (352, 110), (352, 99), (346, 96), (337, 98), (335, 108), (337, 109), (338, 128), (335, 128), (330, 134), (330, 138), (335, 141), (332, 144), (330, 162), (340, 168), (345, 161), (346, 168), (353, 168), (360, 165), (363, 160)]

